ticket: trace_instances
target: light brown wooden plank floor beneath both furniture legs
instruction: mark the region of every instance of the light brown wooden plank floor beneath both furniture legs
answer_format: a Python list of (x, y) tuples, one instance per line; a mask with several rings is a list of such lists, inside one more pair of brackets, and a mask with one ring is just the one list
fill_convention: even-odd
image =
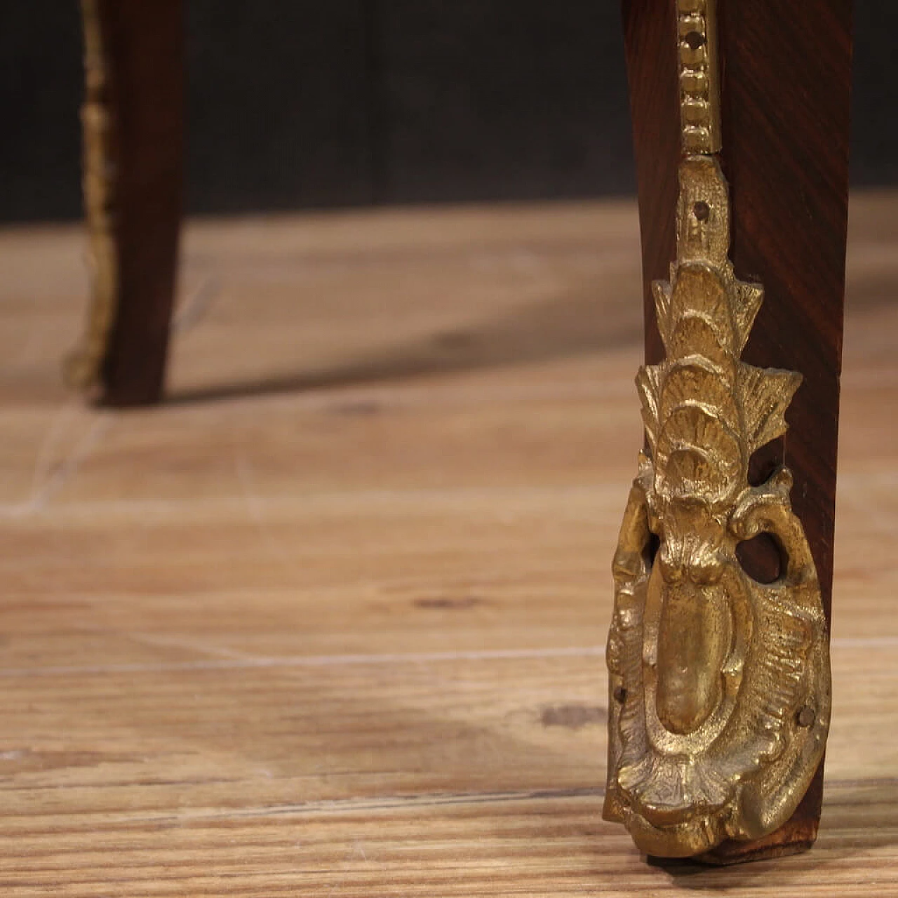
[(821, 838), (723, 871), (600, 818), (629, 203), (191, 225), (129, 413), (58, 384), (83, 248), (0, 233), (0, 894), (898, 895), (898, 195), (852, 207)]

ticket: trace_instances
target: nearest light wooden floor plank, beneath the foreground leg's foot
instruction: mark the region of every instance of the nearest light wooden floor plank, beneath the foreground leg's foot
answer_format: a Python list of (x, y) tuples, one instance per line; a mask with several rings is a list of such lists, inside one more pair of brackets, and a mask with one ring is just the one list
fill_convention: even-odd
[[(620, 827), (600, 819), (594, 796), (499, 795), (483, 801), (426, 797), (397, 806), (338, 804), (310, 814), (273, 813), (197, 821), (157, 817), (102, 827), (114, 853), (60, 844), (52, 832), (28, 837), (35, 861), (4, 876), (7, 894), (31, 896), (59, 878), (57, 894), (87, 898), (103, 888), (135, 895), (339, 894), (520, 895), (670, 894), (720, 889), (774, 894), (775, 871), (795, 894), (858, 896), (857, 865), (887, 877), (876, 852), (898, 838), (894, 786), (833, 789), (814, 854), (782, 864), (763, 862), (726, 874), (681, 867), (647, 867), (629, 851)], [(860, 849), (858, 830), (883, 825), (874, 845)], [(55, 842), (54, 853), (42, 853)], [(601, 845), (604, 850), (596, 850)], [(239, 847), (239, 848), (237, 848)], [(119, 857), (121, 866), (119, 866)], [(115, 858), (113, 863), (110, 859)], [(202, 862), (198, 863), (198, 858)], [(780, 880), (782, 881), (782, 880)], [(880, 878), (882, 894), (890, 880)], [(299, 888), (297, 889), (297, 884)], [(93, 891), (92, 891), (93, 890)], [(230, 891), (228, 891), (230, 890)], [(44, 893), (46, 894), (46, 893)], [(782, 893), (780, 893), (782, 894)]]

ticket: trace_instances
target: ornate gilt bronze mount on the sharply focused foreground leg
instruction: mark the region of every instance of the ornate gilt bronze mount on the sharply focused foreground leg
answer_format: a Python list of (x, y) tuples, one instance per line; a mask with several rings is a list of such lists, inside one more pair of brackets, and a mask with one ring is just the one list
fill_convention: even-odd
[[(785, 467), (748, 481), (786, 432), (801, 374), (741, 361), (762, 286), (735, 277), (710, 0), (679, 0), (683, 160), (677, 259), (653, 284), (665, 361), (640, 368), (647, 450), (613, 561), (604, 816), (640, 850), (691, 857), (794, 813), (823, 756), (830, 667), (820, 587)], [(760, 583), (736, 556), (767, 533)]]

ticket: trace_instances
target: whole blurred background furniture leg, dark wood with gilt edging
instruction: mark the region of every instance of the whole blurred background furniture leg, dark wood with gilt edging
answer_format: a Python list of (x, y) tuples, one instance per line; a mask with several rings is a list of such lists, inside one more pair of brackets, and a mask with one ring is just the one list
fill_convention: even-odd
[(155, 402), (163, 390), (181, 207), (181, 7), (82, 0), (93, 296), (66, 376), (107, 405)]

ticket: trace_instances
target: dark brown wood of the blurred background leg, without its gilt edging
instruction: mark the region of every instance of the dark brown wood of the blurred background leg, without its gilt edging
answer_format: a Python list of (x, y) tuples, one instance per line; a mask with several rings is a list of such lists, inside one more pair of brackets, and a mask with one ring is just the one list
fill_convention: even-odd
[(119, 296), (101, 367), (100, 401), (158, 401), (177, 271), (183, 168), (181, 0), (103, 0), (115, 128)]

